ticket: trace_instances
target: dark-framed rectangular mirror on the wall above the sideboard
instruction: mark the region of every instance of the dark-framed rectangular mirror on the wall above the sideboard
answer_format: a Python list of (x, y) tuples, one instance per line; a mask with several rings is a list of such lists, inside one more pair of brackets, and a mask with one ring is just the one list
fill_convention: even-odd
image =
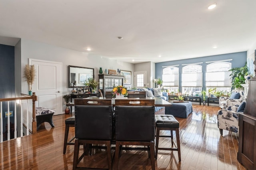
[[(94, 78), (94, 68), (68, 66), (68, 87), (84, 87), (88, 78)], [(74, 85), (74, 86), (73, 86)]]

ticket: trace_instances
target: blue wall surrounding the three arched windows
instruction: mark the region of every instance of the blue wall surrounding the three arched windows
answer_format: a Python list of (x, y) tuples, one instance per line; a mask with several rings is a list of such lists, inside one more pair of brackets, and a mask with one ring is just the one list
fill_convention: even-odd
[[(182, 67), (184, 67), (182, 64), (192, 64), (192, 63), (202, 63), (202, 72), (203, 72), (203, 89), (205, 90), (205, 73), (206, 73), (206, 65), (208, 63), (205, 63), (207, 61), (219, 61), (219, 60), (226, 60), (226, 59), (232, 59), (232, 61), (229, 61), (232, 63), (232, 68), (234, 67), (244, 67), (246, 60), (247, 60), (247, 52), (238, 52), (238, 53), (229, 53), (229, 54), (222, 54), (222, 55), (212, 55), (207, 57), (198, 57), (198, 58), (192, 58), (192, 59), (182, 59), (182, 60), (176, 60), (176, 61), (166, 61), (161, 63), (156, 63), (156, 79), (160, 78), (162, 79), (162, 73), (163, 73), (163, 67), (162, 66), (169, 66), (169, 65), (179, 65), (176, 67), (179, 67), (179, 73), (180, 73), (180, 85), (181, 85), (181, 74), (182, 74)], [(182, 91), (182, 87), (179, 87), (179, 90)]]

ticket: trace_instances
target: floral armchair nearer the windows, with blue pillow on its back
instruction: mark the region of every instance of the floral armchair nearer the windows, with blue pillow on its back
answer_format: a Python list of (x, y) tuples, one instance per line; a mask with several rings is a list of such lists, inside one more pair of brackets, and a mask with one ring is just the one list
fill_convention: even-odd
[(239, 99), (230, 99), (229, 97), (220, 97), (219, 105), (221, 109), (226, 109), (230, 106), (239, 106), (244, 101), (244, 91), (243, 90), (233, 90), (232, 92), (240, 93)]

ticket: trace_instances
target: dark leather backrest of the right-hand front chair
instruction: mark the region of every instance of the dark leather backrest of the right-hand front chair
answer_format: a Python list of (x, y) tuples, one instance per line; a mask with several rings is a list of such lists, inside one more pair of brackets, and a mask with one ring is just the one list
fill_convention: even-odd
[(154, 99), (116, 99), (116, 140), (154, 140)]

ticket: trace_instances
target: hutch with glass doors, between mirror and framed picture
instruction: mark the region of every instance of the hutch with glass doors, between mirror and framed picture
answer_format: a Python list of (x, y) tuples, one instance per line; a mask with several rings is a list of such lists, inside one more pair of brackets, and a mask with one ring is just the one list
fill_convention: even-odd
[(123, 85), (124, 76), (99, 74), (99, 89), (105, 97), (106, 91), (112, 91), (114, 86)]

